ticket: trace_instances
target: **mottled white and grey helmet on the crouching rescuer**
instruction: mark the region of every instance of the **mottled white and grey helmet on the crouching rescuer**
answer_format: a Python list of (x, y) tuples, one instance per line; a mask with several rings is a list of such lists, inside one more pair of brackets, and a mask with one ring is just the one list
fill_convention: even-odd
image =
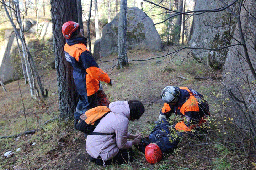
[(177, 102), (179, 95), (180, 95), (180, 91), (178, 87), (166, 86), (162, 91), (161, 98), (165, 103), (169, 104), (169, 103)]

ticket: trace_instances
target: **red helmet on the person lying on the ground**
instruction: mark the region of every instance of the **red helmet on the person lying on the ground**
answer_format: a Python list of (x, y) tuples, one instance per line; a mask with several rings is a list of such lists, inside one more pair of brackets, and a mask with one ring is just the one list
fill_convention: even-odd
[(162, 151), (158, 145), (150, 143), (145, 148), (145, 156), (148, 163), (155, 164), (162, 159)]

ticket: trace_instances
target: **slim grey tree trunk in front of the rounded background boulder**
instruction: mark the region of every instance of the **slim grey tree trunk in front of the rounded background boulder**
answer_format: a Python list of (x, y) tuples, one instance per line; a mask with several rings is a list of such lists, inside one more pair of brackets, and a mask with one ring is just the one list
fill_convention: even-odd
[(119, 12), (119, 23), (118, 23), (118, 57), (119, 62), (117, 65), (118, 69), (122, 69), (123, 66), (128, 66), (128, 57), (126, 52), (126, 22), (127, 22), (127, 0), (121, 0), (120, 12)]

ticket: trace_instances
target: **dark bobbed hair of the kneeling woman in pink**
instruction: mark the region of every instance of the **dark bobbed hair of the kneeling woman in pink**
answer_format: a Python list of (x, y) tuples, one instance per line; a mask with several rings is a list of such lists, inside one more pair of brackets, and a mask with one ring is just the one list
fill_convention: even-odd
[(145, 111), (143, 104), (138, 100), (129, 100), (128, 101), (130, 107), (130, 120), (138, 120)]

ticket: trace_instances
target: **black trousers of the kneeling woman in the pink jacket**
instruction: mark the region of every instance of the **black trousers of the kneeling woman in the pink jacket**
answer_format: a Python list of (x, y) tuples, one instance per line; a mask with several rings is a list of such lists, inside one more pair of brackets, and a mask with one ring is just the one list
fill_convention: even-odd
[[(112, 165), (112, 164), (120, 165), (120, 164), (127, 163), (128, 160), (130, 160), (130, 162), (132, 162), (133, 157), (130, 157), (130, 156), (133, 156), (133, 155), (134, 155), (134, 153), (133, 153), (132, 148), (124, 149), (124, 150), (120, 149), (119, 152), (117, 153), (117, 155), (113, 159), (104, 161), (104, 164), (105, 165)], [(103, 160), (101, 158), (95, 159), (95, 158), (91, 157), (90, 160), (97, 165), (104, 165)]]

